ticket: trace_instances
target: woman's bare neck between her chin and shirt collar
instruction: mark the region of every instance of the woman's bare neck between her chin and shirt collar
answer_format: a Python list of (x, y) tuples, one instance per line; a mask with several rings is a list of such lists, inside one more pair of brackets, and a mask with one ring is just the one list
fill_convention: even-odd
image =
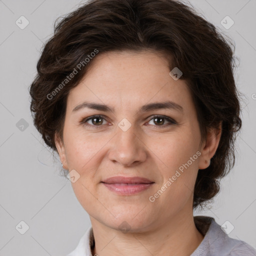
[(103, 225), (91, 216), (90, 219), (95, 239), (92, 255), (189, 256), (203, 239), (195, 227), (192, 214), (179, 212), (168, 222), (157, 223), (149, 231), (127, 233)]

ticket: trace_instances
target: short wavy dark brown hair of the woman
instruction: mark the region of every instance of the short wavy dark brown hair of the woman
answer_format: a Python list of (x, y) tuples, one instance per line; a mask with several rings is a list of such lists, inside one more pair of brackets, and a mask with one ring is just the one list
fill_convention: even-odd
[[(233, 49), (232, 47), (233, 46)], [(234, 45), (192, 7), (177, 0), (90, 0), (54, 23), (30, 85), (30, 110), (45, 143), (56, 151), (54, 133), (63, 139), (68, 92), (93, 58), (54, 93), (88, 54), (121, 50), (164, 52), (169, 68), (182, 71), (196, 107), (202, 138), (222, 123), (210, 165), (198, 170), (193, 208), (219, 191), (219, 178), (234, 165), (235, 134), (241, 127), (238, 91), (233, 77)]]

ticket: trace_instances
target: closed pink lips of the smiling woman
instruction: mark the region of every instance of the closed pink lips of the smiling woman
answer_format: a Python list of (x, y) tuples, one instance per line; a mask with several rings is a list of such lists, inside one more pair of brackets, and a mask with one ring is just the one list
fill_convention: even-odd
[(101, 181), (110, 191), (119, 195), (132, 195), (148, 189), (154, 182), (143, 177), (115, 176)]

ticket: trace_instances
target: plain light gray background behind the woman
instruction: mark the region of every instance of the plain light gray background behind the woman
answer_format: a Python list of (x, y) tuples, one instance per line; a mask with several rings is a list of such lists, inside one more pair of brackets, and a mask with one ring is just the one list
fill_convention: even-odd
[[(28, 95), (41, 46), (52, 34), (53, 22), (83, 2), (0, 0), (1, 256), (65, 255), (90, 225), (70, 181), (59, 175), (58, 155), (51, 154), (33, 126)], [(245, 95), (236, 164), (223, 178), (221, 192), (211, 208), (194, 214), (213, 216), (220, 225), (228, 220), (234, 226), (230, 237), (256, 247), (256, 1), (190, 2), (200, 15), (235, 41), (235, 54), (240, 58), (235, 79)], [(21, 15), (29, 21), (24, 29), (15, 24)], [(234, 21), (229, 29), (220, 23), (226, 15)], [(24, 234), (15, 228), (21, 220), (29, 226)]]

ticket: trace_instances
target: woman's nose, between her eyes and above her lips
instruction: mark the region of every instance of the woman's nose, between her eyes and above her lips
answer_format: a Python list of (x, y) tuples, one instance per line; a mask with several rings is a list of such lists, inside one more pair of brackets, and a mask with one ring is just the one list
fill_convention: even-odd
[(146, 148), (141, 133), (135, 129), (134, 125), (126, 131), (117, 127), (116, 134), (111, 139), (108, 157), (111, 161), (123, 166), (134, 166), (145, 161)]

